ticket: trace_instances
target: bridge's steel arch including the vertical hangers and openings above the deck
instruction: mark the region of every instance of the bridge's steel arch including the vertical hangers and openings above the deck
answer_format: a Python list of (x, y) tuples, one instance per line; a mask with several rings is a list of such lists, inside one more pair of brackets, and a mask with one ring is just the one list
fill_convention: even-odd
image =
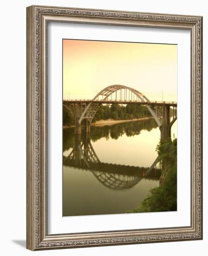
[[(92, 99), (92, 101), (99, 100), (99, 97), (102, 97), (102, 101), (108, 101), (113, 100), (116, 102), (119, 101), (137, 101), (140, 102), (149, 102), (148, 98), (140, 93), (138, 90), (135, 90), (133, 88), (124, 86), (124, 85), (111, 85), (103, 90), (101, 90), (95, 97)], [(114, 97), (114, 98), (113, 98)], [(95, 116), (97, 110), (100, 108), (101, 103), (99, 104), (93, 104), (89, 103), (85, 110), (83, 111), (78, 123), (81, 124), (83, 119), (89, 119), (91, 122), (93, 120), (93, 117)], [(158, 126), (161, 126), (160, 119), (162, 118), (161, 114), (159, 112), (156, 112), (153, 108), (151, 108), (149, 105), (145, 105), (148, 110), (150, 111), (151, 115), (154, 117), (155, 121), (157, 122)]]

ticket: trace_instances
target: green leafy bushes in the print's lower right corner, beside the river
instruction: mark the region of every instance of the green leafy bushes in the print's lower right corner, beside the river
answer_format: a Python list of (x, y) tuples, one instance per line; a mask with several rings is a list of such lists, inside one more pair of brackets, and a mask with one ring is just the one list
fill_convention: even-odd
[[(157, 147), (158, 161), (162, 161), (163, 172), (166, 172), (164, 182), (150, 190), (150, 195), (135, 212), (161, 212), (177, 210), (177, 140), (160, 142)], [(162, 174), (163, 175), (163, 174)]]

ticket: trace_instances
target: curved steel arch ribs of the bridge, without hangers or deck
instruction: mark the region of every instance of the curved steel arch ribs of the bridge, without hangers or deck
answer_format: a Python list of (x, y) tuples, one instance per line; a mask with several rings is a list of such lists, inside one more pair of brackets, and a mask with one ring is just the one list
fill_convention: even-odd
[[(129, 91), (131, 91), (134, 95), (136, 95), (140, 101), (142, 102), (149, 102), (148, 98), (140, 93), (138, 90), (133, 89), (131, 87), (127, 87), (125, 85), (110, 85), (104, 89), (102, 89), (98, 94), (95, 95), (95, 97), (92, 99), (92, 101), (96, 101), (98, 99), (99, 96), (104, 96), (103, 101), (107, 100), (108, 97), (119, 91), (122, 89), (127, 89)], [(113, 102), (113, 101), (112, 101)], [(99, 103), (99, 102), (98, 102)], [(78, 123), (81, 124), (83, 119), (89, 118), (89, 121), (91, 122), (97, 112), (97, 110), (100, 108), (101, 103), (97, 104), (97, 105), (93, 105), (92, 103), (89, 103), (88, 106), (85, 108), (85, 110), (83, 111)], [(159, 114), (159, 118), (158, 115), (155, 113), (155, 111), (147, 104), (145, 104), (146, 108), (150, 111), (151, 115), (153, 116), (153, 118), (155, 119), (155, 121), (157, 122), (158, 126), (160, 127), (162, 125), (161, 121), (159, 120), (162, 116)]]

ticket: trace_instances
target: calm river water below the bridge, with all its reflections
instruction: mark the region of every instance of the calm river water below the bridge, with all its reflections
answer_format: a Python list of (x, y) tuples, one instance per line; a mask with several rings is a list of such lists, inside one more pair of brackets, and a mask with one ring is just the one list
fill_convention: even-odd
[[(171, 128), (177, 137), (177, 123)], [(63, 216), (118, 214), (139, 207), (159, 185), (154, 119), (63, 130)]]

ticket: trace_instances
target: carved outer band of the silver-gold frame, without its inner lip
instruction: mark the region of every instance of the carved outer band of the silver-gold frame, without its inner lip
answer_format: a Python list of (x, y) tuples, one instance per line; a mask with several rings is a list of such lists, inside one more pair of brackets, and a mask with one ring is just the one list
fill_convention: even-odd
[[(38, 8), (39, 7), (39, 8)], [(27, 243), (26, 247), (30, 250), (42, 250), (42, 249), (63, 249), (63, 248), (73, 248), (73, 247), (87, 247), (87, 246), (104, 246), (104, 245), (117, 245), (117, 244), (133, 244), (133, 243), (155, 243), (155, 242), (175, 242), (182, 240), (198, 240), (202, 239), (202, 17), (196, 16), (180, 16), (180, 15), (171, 15), (168, 14), (168, 17), (165, 14), (153, 15), (153, 13), (127, 13), (119, 11), (110, 11), (103, 10), (90, 10), (90, 9), (78, 9), (78, 8), (66, 8), (63, 7), (44, 7), (44, 6), (31, 6), (27, 7)], [(44, 9), (44, 8), (47, 8)], [(88, 11), (85, 11), (88, 10)], [(196, 50), (196, 67), (195, 75), (193, 81), (195, 81), (195, 90), (197, 96), (196, 102), (196, 111), (194, 115), (194, 120), (196, 120), (196, 131), (194, 134), (197, 137), (196, 153), (195, 155), (195, 168), (197, 167), (197, 184), (194, 187), (197, 187), (198, 193), (195, 193), (195, 203), (198, 209), (194, 211), (194, 221), (195, 228), (192, 233), (182, 233), (182, 234), (164, 234), (154, 236), (143, 236), (143, 237), (119, 237), (119, 238), (96, 238), (96, 239), (87, 239), (83, 240), (81, 237), (78, 240), (69, 241), (64, 239), (60, 241), (59, 237), (54, 237), (54, 241), (44, 241), (47, 237), (47, 227), (45, 226), (47, 220), (43, 220), (45, 215), (45, 201), (44, 193), (45, 184), (43, 184), (43, 179), (46, 178), (44, 175), (45, 161), (42, 161), (44, 158), (44, 135), (45, 129), (43, 129), (42, 122), (44, 121), (44, 116), (42, 112), (45, 110), (45, 100), (44, 96), (40, 93), (45, 93), (44, 91), (44, 80), (41, 74), (44, 73), (42, 69), (44, 66), (43, 59), (40, 60), (40, 57), (43, 55), (43, 45), (40, 47), (41, 40), (43, 39), (43, 34), (39, 32), (40, 29), (40, 14), (47, 13), (54, 16), (57, 14), (61, 15), (71, 15), (79, 16), (91, 19), (91, 16), (94, 18), (96, 16), (115, 19), (127, 18), (128, 20), (139, 19), (141, 20), (152, 20), (156, 22), (157, 20), (171, 21), (172, 24), (180, 22), (183, 26), (188, 26), (189, 24), (197, 25), (197, 32), (195, 34), (195, 45), (198, 46)], [(148, 15), (147, 15), (148, 14)], [(170, 19), (169, 19), (170, 17)], [(163, 23), (162, 22), (162, 23)], [(82, 22), (81, 22), (82, 23)], [(85, 23), (85, 22), (83, 22)], [(126, 22), (125, 22), (126, 23)], [(182, 25), (181, 25), (182, 26)], [(166, 26), (164, 26), (166, 27)], [(173, 26), (174, 27), (174, 26)], [(201, 33), (200, 33), (201, 32)], [(196, 40), (197, 39), (197, 40)], [(193, 56), (193, 55), (192, 55)], [(199, 70), (199, 71), (198, 71)], [(193, 71), (193, 70), (192, 70)], [(43, 73), (41, 73), (43, 72)], [(192, 82), (193, 82), (192, 81)], [(192, 83), (193, 85), (193, 83)], [(198, 118), (197, 117), (198, 114)], [(197, 130), (198, 128), (198, 130)], [(39, 139), (41, 141), (39, 141)], [(196, 174), (195, 174), (196, 175)], [(195, 176), (196, 180), (196, 176)], [(196, 191), (196, 188), (194, 188)], [(197, 196), (198, 195), (198, 196)], [(199, 211), (199, 208), (201, 211)], [(197, 216), (196, 216), (197, 214)], [(46, 221), (46, 222), (45, 222)], [(194, 232), (194, 233), (193, 233)], [(195, 233), (196, 232), (196, 233)], [(63, 234), (61, 234), (63, 235)]]

